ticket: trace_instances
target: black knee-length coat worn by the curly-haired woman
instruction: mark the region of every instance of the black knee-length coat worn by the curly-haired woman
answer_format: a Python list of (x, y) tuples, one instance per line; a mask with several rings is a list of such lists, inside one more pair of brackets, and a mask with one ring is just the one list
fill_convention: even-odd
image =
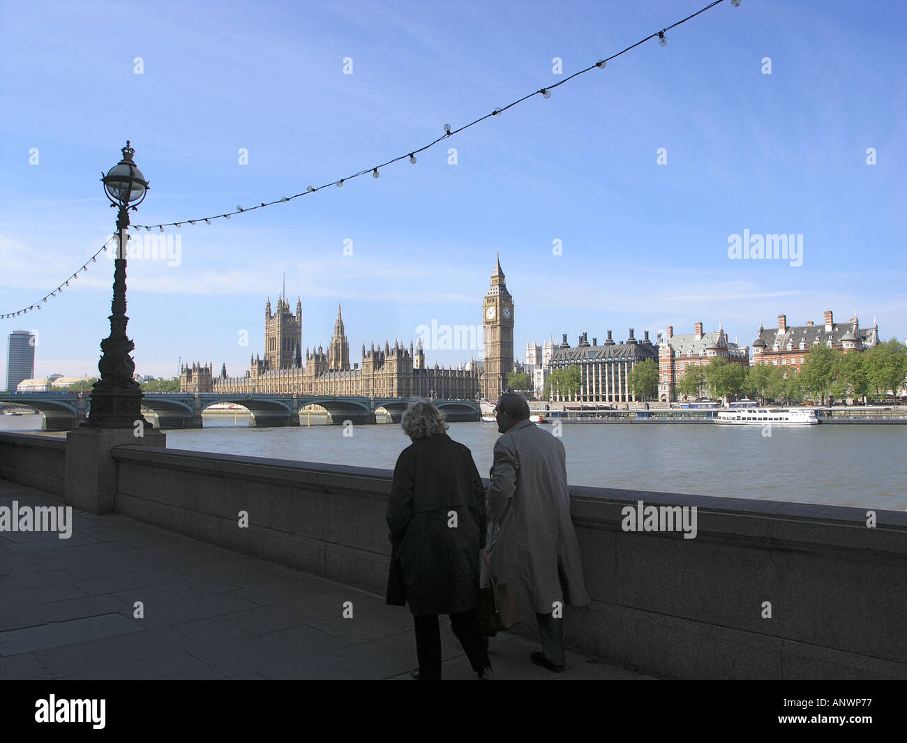
[(466, 446), (438, 434), (400, 453), (387, 525), (415, 615), (475, 608), (486, 518), (482, 478)]

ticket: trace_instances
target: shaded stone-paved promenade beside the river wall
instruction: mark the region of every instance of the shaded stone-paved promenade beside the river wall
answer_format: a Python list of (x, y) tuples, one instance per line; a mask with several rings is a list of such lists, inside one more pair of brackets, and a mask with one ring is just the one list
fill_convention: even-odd
[[(63, 505), (0, 480), (0, 506), (14, 500)], [(442, 640), (444, 678), (475, 679), (446, 618)], [(533, 650), (494, 638), (490, 678), (650, 678), (575, 653), (553, 674)], [(0, 532), (0, 679), (409, 679), (416, 665), (409, 610), (374, 593), (121, 515), (73, 509), (69, 539)]]

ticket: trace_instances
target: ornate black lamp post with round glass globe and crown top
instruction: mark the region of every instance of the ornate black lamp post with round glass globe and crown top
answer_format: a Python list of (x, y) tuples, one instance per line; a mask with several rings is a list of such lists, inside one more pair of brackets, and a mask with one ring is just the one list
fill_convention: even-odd
[(135, 344), (126, 337), (126, 241), (129, 230), (129, 210), (138, 209), (148, 193), (148, 181), (135, 167), (129, 142), (122, 148), (122, 160), (114, 165), (101, 181), (104, 192), (117, 213), (117, 254), (113, 261), (113, 301), (111, 305), (111, 334), (101, 341), (103, 355), (98, 362), (101, 378), (94, 383), (92, 409), (88, 417), (90, 428), (132, 428), (137, 421), (151, 427), (141, 417), (141, 387), (135, 381), (135, 362), (130, 352)]

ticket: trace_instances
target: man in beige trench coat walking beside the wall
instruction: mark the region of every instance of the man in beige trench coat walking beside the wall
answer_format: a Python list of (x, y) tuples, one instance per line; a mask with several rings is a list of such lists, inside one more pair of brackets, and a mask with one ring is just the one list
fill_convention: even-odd
[(560, 672), (563, 606), (590, 603), (571, 522), (564, 445), (529, 420), (529, 405), (519, 395), (503, 394), (495, 416), (503, 435), (494, 444), (488, 494), (492, 565), (499, 581), (528, 593), (543, 650), (532, 653), (532, 662)]

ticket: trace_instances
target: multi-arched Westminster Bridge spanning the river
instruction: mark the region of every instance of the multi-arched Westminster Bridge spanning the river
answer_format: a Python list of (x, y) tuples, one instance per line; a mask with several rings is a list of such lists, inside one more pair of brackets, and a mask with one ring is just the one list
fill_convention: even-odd
[[(478, 421), (479, 403), (474, 400), (433, 400), (452, 423)], [(87, 392), (17, 392), (0, 393), (0, 403), (30, 407), (44, 415), (45, 431), (72, 431), (88, 420), (91, 394)], [(375, 413), (390, 415), (399, 423), (409, 400), (405, 397), (362, 397), (333, 395), (265, 395), (217, 392), (145, 393), (141, 405), (158, 416), (160, 428), (201, 428), (201, 414), (206, 408), (231, 403), (249, 410), (250, 426), (276, 427), (299, 425), (299, 414), (308, 406), (318, 406), (327, 413), (330, 423), (342, 425), (375, 423)], [(320, 411), (319, 411), (320, 412)]]

